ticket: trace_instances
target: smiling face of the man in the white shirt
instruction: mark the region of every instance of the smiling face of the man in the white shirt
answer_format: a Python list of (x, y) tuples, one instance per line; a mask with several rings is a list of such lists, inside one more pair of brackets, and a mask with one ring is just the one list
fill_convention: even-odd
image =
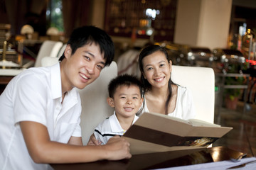
[[(95, 43), (79, 47), (73, 55), (68, 45), (65, 49), (65, 63), (61, 69), (63, 91), (68, 91), (74, 86), (83, 89), (100, 76), (105, 67), (104, 54), (100, 52), (99, 45)], [(62, 64), (62, 62), (60, 62)]]

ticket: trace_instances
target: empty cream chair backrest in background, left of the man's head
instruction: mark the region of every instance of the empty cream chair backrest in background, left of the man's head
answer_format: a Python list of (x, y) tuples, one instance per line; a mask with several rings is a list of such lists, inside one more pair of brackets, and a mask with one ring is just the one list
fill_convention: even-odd
[(63, 42), (45, 40), (40, 47), (38, 55), (36, 57), (35, 67), (41, 67), (41, 60), (43, 57), (57, 57), (60, 48), (63, 46)]

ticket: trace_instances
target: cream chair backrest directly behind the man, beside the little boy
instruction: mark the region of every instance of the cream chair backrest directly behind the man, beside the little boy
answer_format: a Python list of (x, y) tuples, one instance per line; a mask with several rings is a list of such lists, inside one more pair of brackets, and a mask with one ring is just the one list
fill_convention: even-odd
[[(42, 67), (48, 67), (58, 62), (58, 57), (43, 57)], [(85, 89), (78, 89), (82, 104), (81, 123), (82, 142), (87, 144), (95, 127), (110, 117), (114, 109), (107, 104), (107, 85), (110, 80), (117, 76), (117, 63), (112, 62), (109, 67), (102, 69), (100, 77)]]

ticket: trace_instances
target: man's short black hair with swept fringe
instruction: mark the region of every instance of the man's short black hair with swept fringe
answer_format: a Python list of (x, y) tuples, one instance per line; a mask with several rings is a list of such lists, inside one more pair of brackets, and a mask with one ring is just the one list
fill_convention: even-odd
[[(83, 26), (73, 30), (70, 35), (67, 45), (72, 49), (72, 55), (75, 51), (84, 45), (95, 43), (100, 46), (100, 52), (104, 54), (106, 59), (106, 66), (109, 66), (114, 59), (114, 43), (110, 35), (95, 26)], [(59, 61), (64, 59), (64, 54), (60, 57)]]

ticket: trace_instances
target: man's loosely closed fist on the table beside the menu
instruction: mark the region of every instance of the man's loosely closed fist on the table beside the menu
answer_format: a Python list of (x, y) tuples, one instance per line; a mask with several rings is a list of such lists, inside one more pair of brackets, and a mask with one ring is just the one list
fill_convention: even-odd
[(129, 159), (132, 157), (132, 154), (129, 152), (129, 142), (118, 135), (111, 137), (104, 146), (108, 151), (107, 153), (109, 153), (107, 155), (108, 160)]

